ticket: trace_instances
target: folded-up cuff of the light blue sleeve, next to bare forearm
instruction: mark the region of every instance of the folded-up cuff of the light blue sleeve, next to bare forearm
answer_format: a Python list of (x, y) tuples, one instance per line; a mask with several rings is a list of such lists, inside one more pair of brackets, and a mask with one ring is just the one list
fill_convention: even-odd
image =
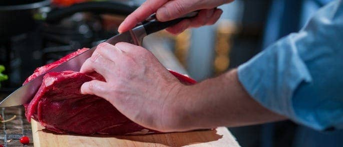
[(311, 76), (288, 35), (238, 67), (238, 78), (249, 95), (267, 109), (297, 120), (292, 95)]

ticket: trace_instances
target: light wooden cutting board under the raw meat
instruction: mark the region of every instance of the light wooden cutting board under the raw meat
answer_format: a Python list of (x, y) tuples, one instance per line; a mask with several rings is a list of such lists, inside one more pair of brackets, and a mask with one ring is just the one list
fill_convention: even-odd
[(141, 136), (61, 135), (31, 120), (35, 147), (239, 147), (225, 128)]

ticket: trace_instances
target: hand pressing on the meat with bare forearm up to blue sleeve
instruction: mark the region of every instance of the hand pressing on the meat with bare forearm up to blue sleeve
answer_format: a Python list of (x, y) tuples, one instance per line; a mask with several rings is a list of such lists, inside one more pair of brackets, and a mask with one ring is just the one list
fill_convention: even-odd
[(106, 82), (81, 86), (82, 94), (109, 101), (135, 123), (160, 132), (242, 126), (284, 120), (245, 91), (237, 70), (192, 86), (179, 82), (143, 47), (101, 43), (80, 72), (96, 71)]

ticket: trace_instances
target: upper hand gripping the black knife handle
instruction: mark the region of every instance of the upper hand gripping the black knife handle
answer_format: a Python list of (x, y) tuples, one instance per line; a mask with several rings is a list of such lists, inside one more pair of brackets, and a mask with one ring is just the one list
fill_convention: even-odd
[(216, 8), (233, 0), (146, 0), (120, 24), (118, 31), (125, 32), (142, 22), (156, 12), (159, 21), (168, 21), (181, 17), (189, 12), (200, 10), (194, 18), (185, 19), (167, 28), (172, 34), (178, 34), (190, 27), (200, 27), (214, 24), (222, 14)]

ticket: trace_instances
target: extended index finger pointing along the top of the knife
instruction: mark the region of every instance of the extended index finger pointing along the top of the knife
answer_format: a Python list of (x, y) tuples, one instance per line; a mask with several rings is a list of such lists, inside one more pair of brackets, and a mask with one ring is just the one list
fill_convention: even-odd
[(157, 9), (167, 1), (168, 0), (146, 0), (140, 7), (125, 18), (119, 25), (118, 31), (122, 33), (133, 28), (137, 23), (142, 22), (148, 16), (156, 12)]

